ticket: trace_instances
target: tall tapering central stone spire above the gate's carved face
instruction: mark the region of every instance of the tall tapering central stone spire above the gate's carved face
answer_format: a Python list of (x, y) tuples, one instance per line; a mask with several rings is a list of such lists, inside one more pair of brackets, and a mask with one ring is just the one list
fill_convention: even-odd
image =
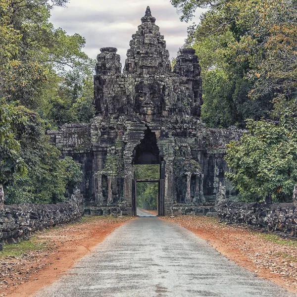
[(138, 74), (143, 77), (171, 72), (166, 42), (164, 36), (160, 35), (155, 20), (148, 6), (145, 16), (141, 19), (142, 24), (138, 26), (136, 34), (132, 35), (124, 73)]

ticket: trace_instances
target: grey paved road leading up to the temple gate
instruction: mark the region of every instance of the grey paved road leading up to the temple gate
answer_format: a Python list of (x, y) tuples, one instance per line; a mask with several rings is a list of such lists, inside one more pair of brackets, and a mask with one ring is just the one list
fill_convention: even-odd
[(36, 297), (293, 297), (157, 217), (115, 230)]

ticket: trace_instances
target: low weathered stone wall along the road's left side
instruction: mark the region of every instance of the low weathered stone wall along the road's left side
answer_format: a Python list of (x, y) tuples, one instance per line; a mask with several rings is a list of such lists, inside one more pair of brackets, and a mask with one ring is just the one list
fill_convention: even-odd
[(3, 244), (28, 239), (33, 232), (80, 219), (84, 198), (77, 190), (57, 204), (0, 205), (0, 250)]

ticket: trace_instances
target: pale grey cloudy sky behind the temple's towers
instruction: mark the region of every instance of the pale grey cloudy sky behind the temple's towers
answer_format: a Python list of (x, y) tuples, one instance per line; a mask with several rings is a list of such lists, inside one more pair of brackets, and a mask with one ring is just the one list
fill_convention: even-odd
[[(189, 24), (180, 21), (170, 0), (70, 0), (66, 8), (52, 10), (50, 21), (68, 34), (84, 36), (84, 51), (92, 58), (102, 47), (117, 48), (123, 64), (131, 36), (141, 24), (148, 5), (165, 36), (170, 58), (175, 57), (187, 37)], [(197, 11), (196, 21), (199, 14)]]

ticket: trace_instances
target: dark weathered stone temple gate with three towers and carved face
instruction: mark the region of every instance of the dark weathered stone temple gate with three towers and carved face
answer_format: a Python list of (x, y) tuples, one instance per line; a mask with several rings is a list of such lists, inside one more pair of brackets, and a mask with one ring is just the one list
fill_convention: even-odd
[(132, 36), (122, 72), (115, 48), (100, 49), (90, 124), (49, 131), (62, 156), (82, 165), (85, 214), (136, 215), (135, 164), (159, 164), (159, 215), (211, 211), (228, 171), (225, 146), (234, 129), (199, 119), (202, 79), (194, 49), (181, 49), (173, 71), (149, 7)]

